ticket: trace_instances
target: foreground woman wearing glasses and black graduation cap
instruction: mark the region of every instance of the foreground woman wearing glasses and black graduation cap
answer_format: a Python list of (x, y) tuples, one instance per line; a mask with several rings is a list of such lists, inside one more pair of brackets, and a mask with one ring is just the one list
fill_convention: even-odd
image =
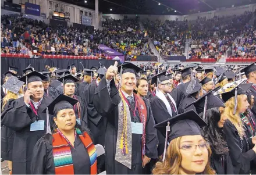
[(165, 128), (170, 130), (168, 132), (170, 144), (152, 173), (215, 174), (209, 162), (211, 148), (201, 135), (200, 127), (206, 125), (194, 110), (155, 125), (155, 128), (164, 135), (166, 135)]

